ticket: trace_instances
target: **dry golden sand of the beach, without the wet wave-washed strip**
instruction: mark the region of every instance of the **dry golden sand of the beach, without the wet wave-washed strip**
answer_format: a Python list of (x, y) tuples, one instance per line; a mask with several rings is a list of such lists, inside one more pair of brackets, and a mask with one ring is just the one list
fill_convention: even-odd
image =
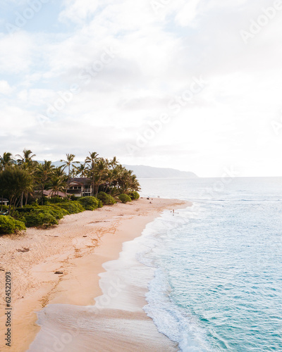
[[(1, 267), (12, 272), (13, 280), (13, 351), (27, 351), (40, 331), (35, 312), (47, 305), (94, 306), (94, 298), (102, 295), (102, 265), (118, 258), (123, 242), (139, 237), (163, 210), (189, 205), (173, 199), (154, 199), (152, 203), (140, 199), (68, 215), (49, 230), (28, 229), (20, 237), (1, 237)], [(56, 271), (63, 274), (56, 275)], [(2, 281), (4, 275), (0, 277)], [(3, 308), (1, 303), (0, 349), (8, 351), (3, 344)]]

